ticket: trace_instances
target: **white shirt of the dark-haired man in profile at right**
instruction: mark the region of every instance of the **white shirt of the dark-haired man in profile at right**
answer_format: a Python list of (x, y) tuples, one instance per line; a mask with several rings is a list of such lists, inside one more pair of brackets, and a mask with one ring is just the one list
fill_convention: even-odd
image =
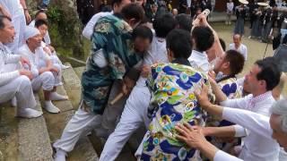
[[(268, 91), (257, 97), (248, 95), (238, 99), (227, 99), (221, 102), (222, 106), (230, 106), (233, 108), (240, 108), (248, 111), (270, 116), (270, 107), (274, 104), (275, 100), (272, 92)], [(230, 120), (229, 120), (230, 121)], [(232, 122), (232, 121), (231, 121)], [(232, 122), (235, 123), (235, 122)], [(248, 122), (246, 122), (248, 124)], [(242, 126), (242, 124), (240, 124)], [(243, 125), (245, 127), (245, 124)], [(239, 158), (250, 161), (270, 161), (278, 160), (279, 146), (278, 143), (269, 139), (266, 140), (264, 136), (258, 135), (254, 131), (244, 131), (243, 127), (237, 126), (236, 136), (247, 136), (244, 141), (244, 146), (241, 150)], [(247, 128), (248, 129), (248, 128)], [(248, 129), (249, 130), (249, 129)]]

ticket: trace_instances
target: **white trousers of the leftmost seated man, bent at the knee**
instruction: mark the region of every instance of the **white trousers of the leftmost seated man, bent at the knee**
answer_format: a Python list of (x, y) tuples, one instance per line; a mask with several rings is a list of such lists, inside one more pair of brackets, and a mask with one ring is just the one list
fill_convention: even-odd
[(37, 105), (30, 80), (26, 76), (22, 75), (0, 87), (0, 103), (13, 97), (17, 99), (17, 111), (23, 108), (35, 108)]

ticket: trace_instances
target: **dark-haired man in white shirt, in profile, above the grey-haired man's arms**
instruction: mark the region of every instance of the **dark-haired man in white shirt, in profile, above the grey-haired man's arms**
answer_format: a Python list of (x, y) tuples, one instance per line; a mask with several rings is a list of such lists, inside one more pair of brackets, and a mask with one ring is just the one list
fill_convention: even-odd
[[(211, 80), (211, 85), (216, 100), (218, 100), (222, 106), (245, 109), (257, 114), (270, 116), (270, 107), (275, 102), (274, 97), (272, 96), (272, 89), (279, 83), (280, 75), (281, 73), (278, 66), (275, 64), (274, 59), (268, 57), (264, 60), (258, 60), (246, 75), (245, 89), (251, 93), (247, 97), (228, 99), (222, 93), (222, 90), (218, 89), (214, 80)], [(218, 130), (218, 128), (213, 129), (214, 131)], [(231, 135), (230, 137), (246, 136), (244, 145), (239, 154), (241, 159), (254, 161), (278, 160), (279, 146), (274, 140), (266, 140), (256, 132), (248, 132), (238, 125), (219, 129), (235, 130), (235, 135)]]

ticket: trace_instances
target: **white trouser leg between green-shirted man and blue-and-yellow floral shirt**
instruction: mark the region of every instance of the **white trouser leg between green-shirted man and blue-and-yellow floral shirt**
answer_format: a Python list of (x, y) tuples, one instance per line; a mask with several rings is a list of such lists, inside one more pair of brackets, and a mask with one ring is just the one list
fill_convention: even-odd
[(147, 117), (150, 99), (151, 94), (147, 87), (135, 86), (126, 100), (126, 106), (116, 130), (109, 135), (101, 152), (100, 161), (115, 160), (133, 132), (143, 123), (145, 127), (148, 127), (151, 123)]

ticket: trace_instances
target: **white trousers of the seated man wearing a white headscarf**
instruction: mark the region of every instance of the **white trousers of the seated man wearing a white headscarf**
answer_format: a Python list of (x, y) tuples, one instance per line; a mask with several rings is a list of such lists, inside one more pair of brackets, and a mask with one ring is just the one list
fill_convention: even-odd
[(38, 77), (31, 80), (34, 91), (39, 91), (42, 87), (44, 90), (52, 90), (55, 85), (55, 78), (52, 72), (43, 72)]

